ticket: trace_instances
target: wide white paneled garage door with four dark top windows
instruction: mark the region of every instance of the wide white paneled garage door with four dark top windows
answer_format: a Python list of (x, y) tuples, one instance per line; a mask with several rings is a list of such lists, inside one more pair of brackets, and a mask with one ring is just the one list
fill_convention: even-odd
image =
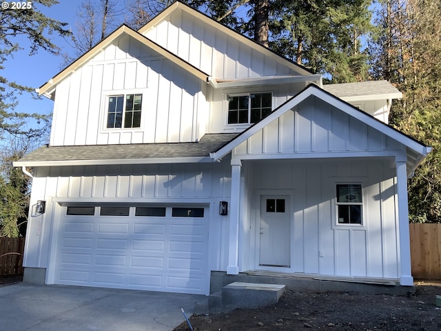
[(64, 207), (54, 282), (207, 294), (208, 220), (194, 207)]

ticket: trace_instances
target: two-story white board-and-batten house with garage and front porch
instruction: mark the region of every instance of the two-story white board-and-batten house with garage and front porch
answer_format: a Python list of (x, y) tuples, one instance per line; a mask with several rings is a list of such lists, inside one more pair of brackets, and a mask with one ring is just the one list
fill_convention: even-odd
[(407, 179), (431, 148), (386, 81), (321, 77), (173, 3), (39, 88), (25, 281), (208, 294), (211, 272), (413, 285)]

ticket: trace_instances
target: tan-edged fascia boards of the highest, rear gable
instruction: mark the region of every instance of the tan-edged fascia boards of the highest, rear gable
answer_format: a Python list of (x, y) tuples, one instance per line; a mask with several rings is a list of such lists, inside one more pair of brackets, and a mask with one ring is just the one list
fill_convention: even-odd
[(264, 53), (265, 56), (276, 60), (278, 63), (282, 64), (283, 66), (287, 66), (291, 68), (292, 70), (298, 72), (299, 74), (302, 75), (314, 74), (313, 72), (307, 70), (303, 66), (300, 66), (297, 63), (294, 63), (293, 61), (289, 61), (288, 59), (285, 59), (279, 54), (276, 54), (276, 52), (269, 50), (269, 48), (259, 45), (258, 43), (256, 43), (256, 41), (253, 41), (252, 39), (249, 39), (243, 36), (242, 34), (239, 34), (238, 32), (228, 28), (227, 26), (224, 26), (222, 23), (219, 23), (218, 21), (215, 21), (211, 17), (208, 17), (206, 14), (203, 14), (198, 10), (194, 10), (193, 8), (190, 8), (189, 6), (185, 5), (185, 3), (181, 3), (179, 1), (176, 1), (172, 3), (172, 5), (165, 8), (165, 10), (163, 10), (161, 13), (156, 15), (156, 17), (154, 17), (151, 21), (147, 22), (145, 26), (141, 27), (138, 31), (141, 34), (143, 34), (148, 32), (149, 30), (152, 30), (152, 28), (158, 25), (158, 23), (163, 21), (163, 19), (165, 19), (168, 15), (170, 15), (174, 10), (177, 9), (182, 10), (183, 12), (187, 12), (187, 14), (191, 14), (192, 16), (197, 17), (198, 19), (201, 19), (201, 21), (209, 24), (209, 26), (212, 26), (213, 28), (216, 28), (217, 30), (224, 32), (229, 37), (232, 37), (237, 41), (240, 41), (240, 43), (245, 43), (247, 46), (253, 48), (254, 50), (257, 49), (259, 52)]

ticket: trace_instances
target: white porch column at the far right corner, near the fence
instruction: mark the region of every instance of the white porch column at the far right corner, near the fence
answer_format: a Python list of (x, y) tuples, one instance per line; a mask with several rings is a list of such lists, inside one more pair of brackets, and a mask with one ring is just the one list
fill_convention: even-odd
[(409, 237), (406, 161), (402, 161), (402, 158), (397, 157), (396, 168), (398, 191), (398, 226), (400, 227), (400, 284), (413, 286), (413, 277), (411, 272), (411, 243)]

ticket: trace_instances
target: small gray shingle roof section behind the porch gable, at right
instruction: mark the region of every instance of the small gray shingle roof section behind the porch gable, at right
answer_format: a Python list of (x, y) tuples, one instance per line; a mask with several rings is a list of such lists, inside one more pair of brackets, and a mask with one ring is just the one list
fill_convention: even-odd
[(323, 90), (339, 98), (400, 93), (389, 81), (327, 84), (323, 86)]

